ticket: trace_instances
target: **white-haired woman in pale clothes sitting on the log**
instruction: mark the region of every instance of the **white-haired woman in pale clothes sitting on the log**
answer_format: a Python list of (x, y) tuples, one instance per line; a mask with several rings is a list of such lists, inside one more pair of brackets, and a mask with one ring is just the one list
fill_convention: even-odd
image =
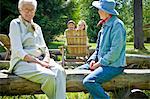
[(19, 0), (20, 16), (10, 23), (11, 61), (9, 71), (41, 84), (49, 99), (65, 99), (66, 74), (50, 59), (41, 27), (33, 22), (36, 0)]

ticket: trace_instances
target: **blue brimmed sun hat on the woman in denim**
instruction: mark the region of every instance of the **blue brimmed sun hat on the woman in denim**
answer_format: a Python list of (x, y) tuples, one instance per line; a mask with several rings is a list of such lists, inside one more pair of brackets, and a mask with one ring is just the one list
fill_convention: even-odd
[(103, 10), (109, 14), (112, 15), (119, 15), (117, 10), (115, 10), (116, 2), (114, 0), (99, 0), (99, 1), (93, 1), (92, 6)]

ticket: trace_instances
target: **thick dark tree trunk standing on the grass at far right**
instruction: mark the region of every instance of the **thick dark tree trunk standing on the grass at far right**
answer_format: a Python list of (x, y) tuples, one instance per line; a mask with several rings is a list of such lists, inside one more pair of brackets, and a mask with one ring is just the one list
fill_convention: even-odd
[(134, 48), (145, 49), (143, 33), (142, 0), (134, 0)]

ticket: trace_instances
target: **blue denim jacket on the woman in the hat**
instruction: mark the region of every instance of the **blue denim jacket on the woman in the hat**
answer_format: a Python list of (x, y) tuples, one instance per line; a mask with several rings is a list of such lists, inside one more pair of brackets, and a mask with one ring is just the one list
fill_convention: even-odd
[(88, 59), (95, 60), (98, 57), (98, 63), (103, 66), (124, 67), (126, 66), (126, 30), (123, 22), (112, 16), (103, 24), (98, 33), (97, 47), (95, 52)]

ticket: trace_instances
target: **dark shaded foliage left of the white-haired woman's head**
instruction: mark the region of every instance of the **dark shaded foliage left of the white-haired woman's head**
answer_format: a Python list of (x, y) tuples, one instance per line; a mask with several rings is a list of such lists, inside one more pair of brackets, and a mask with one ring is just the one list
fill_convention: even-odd
[[(3, 8), (3, 9), (2, 9)], [(0, 0), (0, 32), (8, 34), (9, 23), (18, 14), (16, 0)]]

